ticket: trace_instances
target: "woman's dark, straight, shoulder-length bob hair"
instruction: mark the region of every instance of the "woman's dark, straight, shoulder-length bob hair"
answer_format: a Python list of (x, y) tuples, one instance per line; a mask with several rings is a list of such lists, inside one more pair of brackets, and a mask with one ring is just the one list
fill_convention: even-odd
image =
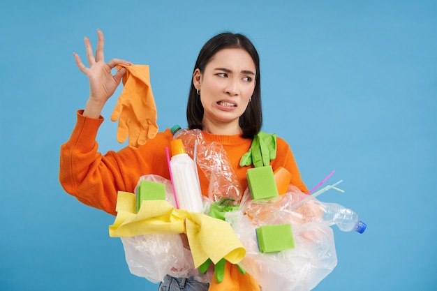
[[(251, 40), (240, 33), (224, 32), (214, 36), (205, 43), (202, 50), (199, 52), (193, 73), (196, 69), (203, 73), (209, 61), (214, 57), (216, 52), (225, 48), (241, 48), (248, 52), (255, 63), (255, 89), (253, 90), (252, 100), (246, 108), (246, 111), (239, 117), (239, 126), (242, 128), (242, 136), (245, 138), (253, 138), (262, 126), (262, 110), (261, 110), (261, 80), (260, 80), (260, 58), (258, 52), (251, 43)], [(188, 128), (203, 129), (203, 106), (198, 98), (197, 91), (193, 84), (193, 77), (191, 77), (191, 89), (188, 95), (188, 104), (186, 107), (186, 119), (188, 121)]]

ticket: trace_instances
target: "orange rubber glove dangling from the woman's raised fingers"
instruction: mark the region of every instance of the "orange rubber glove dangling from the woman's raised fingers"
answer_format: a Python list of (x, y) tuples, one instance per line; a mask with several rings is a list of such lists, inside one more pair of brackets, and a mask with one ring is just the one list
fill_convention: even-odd
[(124, 89), (111, 114), (111, 120), (119, 119), (117, 141), (122, 143), (129, 136), (129, 147), (138, 149), (158, 133), (156, 105), (151, 92), (149, 66), (119, 65), (127, 72), (123, 77)]

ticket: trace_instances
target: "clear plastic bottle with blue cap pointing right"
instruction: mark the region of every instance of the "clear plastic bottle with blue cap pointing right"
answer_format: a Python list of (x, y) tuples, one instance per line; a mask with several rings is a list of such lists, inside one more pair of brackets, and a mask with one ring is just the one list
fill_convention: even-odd
[(329, 225), (337, 225), (343, 232), (363, 233), (366, 230), (366, 223), (358, 219), (358, 215), (340, 204), (320, 202), (320, 209), (323, 211), (323, 221)]

